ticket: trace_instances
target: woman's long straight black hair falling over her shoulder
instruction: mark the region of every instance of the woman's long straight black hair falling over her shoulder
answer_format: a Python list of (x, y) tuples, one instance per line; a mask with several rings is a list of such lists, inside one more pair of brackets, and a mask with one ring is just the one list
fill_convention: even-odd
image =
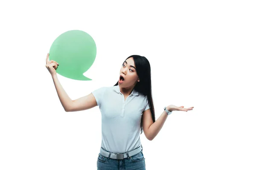
[[(148, 105), (151, 111), (151, 116), (153, 118), (153, 122), (155, 122), (155, 113), (154, 113), (154, 103), (152, 99), (152, 90), (151, 90), (151, 68), (150, 64), (148, 62), (148, 59), (144, 56), (140, 55), (131, 55), (130, 57), (133, 57), (134, 64), (137, 70), (138, 77), (140, 78), (140, 82), (137, 82), (134, 89), (138, 91), (139, 93), (147, 96), (148, 98)], [(128, 58), (130, 58), (128, 57)], [(127, 58), (127, 59), (128, 59)], [(126, 59), (125, 59), (126, 60)], [(114, 86), (118, 85), (118, 81)], [(140, 122), (140, 131), (143, 132), (142, 127), (143, 119), (141, 119)], [(141, 134), (140, 133), (140, 134)]]

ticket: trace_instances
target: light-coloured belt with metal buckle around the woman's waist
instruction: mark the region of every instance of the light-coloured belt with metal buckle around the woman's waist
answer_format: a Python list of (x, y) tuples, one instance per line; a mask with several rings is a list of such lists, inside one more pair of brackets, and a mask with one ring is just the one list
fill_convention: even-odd
[(133, 156), (133, 155), (139, 153), (141, 150), (142, 150), (142, 146), (140, 146), (137, 149), (132, 150), (130, 152), (126, 152), (126, 153), (111, 153), (106, 150), (103, 150), (101, 147), (100, 154), (102, 154), (102, 156), (105, 156), (105, 157), (108, 157), (111, 159), (124, 159), (124, 158), (128, 158), (130, 156)]

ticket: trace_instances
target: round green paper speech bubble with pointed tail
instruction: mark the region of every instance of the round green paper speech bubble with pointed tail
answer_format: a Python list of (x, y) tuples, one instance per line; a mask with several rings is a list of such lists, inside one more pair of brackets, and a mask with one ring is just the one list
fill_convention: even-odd
[(58, 62), (56, 72), (64, 77), (76, 80), (92, 80), (83, 74), (96, 58), (96, 44), (84, 31), (64, 32), (52, 43), (49, 60)]

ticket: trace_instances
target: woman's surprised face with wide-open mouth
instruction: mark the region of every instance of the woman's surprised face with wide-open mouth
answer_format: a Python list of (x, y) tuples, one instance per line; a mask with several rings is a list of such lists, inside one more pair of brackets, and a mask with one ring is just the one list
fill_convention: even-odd
[[(123, 77), (124, 79), (120, 78)], [(123, 63), (121, 69), (120, 69), (120, 75), (118, 80), (118, 85), (122, 88), (135, 86), (137, 82), (139, 82), (140, 79), (137, 75), (136, 67), (134, 64), (133, 57), (130, 57), (125, 60)]]

